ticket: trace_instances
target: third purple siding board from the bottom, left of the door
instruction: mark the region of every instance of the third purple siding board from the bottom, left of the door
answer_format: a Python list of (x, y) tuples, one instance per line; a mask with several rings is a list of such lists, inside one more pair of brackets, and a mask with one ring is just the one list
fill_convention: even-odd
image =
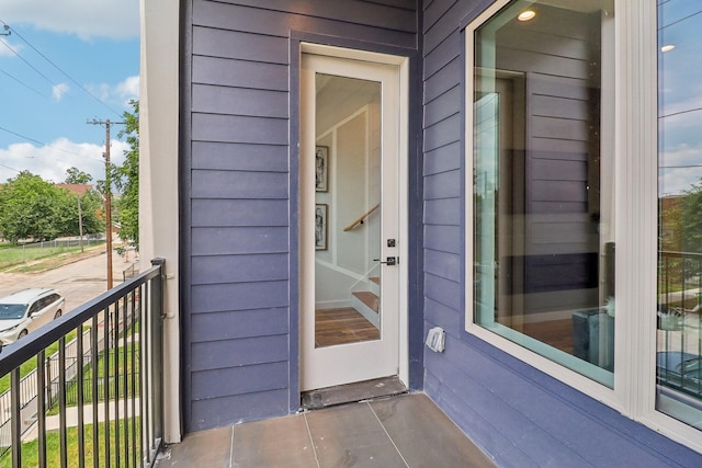
[(193, 372), (287, 362), (287, 334), (193, 343)]

